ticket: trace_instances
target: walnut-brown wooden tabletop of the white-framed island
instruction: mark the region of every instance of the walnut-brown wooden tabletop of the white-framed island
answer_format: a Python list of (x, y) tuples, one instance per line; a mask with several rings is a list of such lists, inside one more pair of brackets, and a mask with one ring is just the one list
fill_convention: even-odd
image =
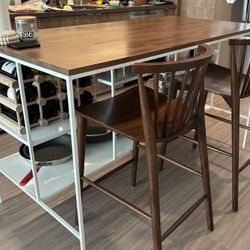
[(245, 23), (165, 16), (40, 30), (40, 48), (0, 54), (74, 75), (249, 32)]

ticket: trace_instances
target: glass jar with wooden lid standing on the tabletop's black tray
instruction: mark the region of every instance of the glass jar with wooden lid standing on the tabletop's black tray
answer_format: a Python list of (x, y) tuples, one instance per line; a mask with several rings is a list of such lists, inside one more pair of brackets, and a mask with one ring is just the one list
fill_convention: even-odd
[(35, 16), (15, 17), (16, 32), (23, 41), (36, 41), (38, 38)]

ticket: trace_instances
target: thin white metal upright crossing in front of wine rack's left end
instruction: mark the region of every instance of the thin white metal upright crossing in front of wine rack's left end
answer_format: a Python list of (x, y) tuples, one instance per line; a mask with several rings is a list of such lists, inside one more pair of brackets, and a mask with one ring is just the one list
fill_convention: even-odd
[(35, 154), (34, 154), (33, 143), (32, 143), (31, 132), (30, 132), (30, 122), (29, 122), (28, 108), (27, 108), (27, 103), (26, 103), (21, 64), (16, 63), (16, 70), (17, 70), (17, 77), (18, 77), (18, 83), (19, 83), (19, 91), (21, 94), (23, 117), (24, 117), (24, 124), (25, 124), (25, 129), (26, 129), (26, 134), (27, 134), (27, 142), (29, 146), (30, 164), (31, 164), (31, 169), (32, 169), (33, 179), (34, 179), (36, 200), (39, 201), (40, 189), (39, 189), (39, 182), (38, 182), (37, 171), (36, 171)]

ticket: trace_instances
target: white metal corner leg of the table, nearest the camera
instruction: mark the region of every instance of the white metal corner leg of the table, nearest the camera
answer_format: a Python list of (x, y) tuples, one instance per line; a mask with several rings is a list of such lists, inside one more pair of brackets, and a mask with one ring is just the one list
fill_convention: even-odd
[(80, 234), (80, 247), (81, 250), (85, 250), (82, 198), (80, 189), (81, 184), (79, 176), (79, 160), (78, 160), (78, 147), (77, 147), (77, 137), (76, 137), (76, 117), (75, 117), (75, 110), (73, 108), (75, 104), (74, 104), (74, 94), (73, 94), (73, 81), (70, 77), (67, 78), (66, 84), (67, 84), (68, 105), (69, 107), (71, 107), (69, 108), (69, 122), (70, 122), (72, 158), (73, 158), (74, 179), (75, 179), (77, 218), (78, 218), (79, 234)]

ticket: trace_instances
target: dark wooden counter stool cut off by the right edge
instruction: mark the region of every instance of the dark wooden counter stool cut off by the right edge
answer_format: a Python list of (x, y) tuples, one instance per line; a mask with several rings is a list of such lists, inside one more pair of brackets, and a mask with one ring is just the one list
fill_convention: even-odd
[[(250, 65), (246, 75), (243, 74), (246, 49), (250, 46), (250, 38), (230, 39), (231, 69), (210, 64), (205, 75), (205, 90), (223, 97), (231, 109), (231, 120), (206, 113), (207, 116), (232, 124), (232, 154), (216, 149), (232, 156), (232, 209), (238, 210), (239, 174), (250, 164), (250, 159), (239, 167), (239, 128), (250, 129), (240, 124), (240, 99), (250, 96)], [(249, 62), (248, 62), (249, 63)]]

